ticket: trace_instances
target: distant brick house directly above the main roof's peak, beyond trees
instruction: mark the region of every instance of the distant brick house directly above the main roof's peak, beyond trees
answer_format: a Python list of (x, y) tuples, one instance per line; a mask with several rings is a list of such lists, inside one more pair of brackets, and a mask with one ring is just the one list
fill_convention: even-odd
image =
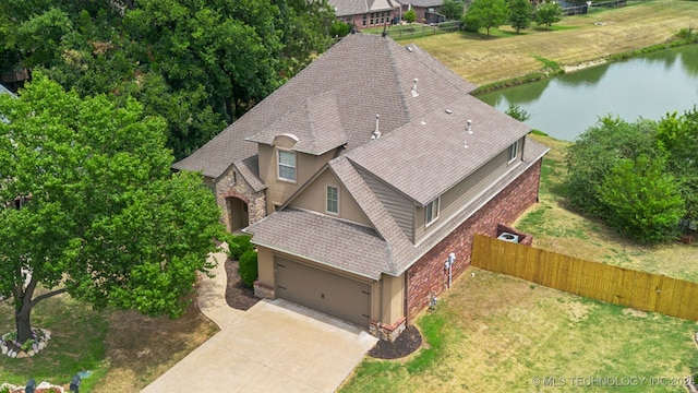
[(389, 25), (400, 15), (396, 0), (328, 0), (327, 3), (335, 10), (337, 20), (353, 24), (358, 31)]

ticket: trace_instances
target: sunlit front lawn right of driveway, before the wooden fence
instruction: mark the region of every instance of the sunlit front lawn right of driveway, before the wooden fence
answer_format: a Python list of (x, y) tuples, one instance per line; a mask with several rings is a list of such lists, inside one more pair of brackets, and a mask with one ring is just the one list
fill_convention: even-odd
[[(675, 392), (681, 390), (650, 385), (650, 379), (683, 378), (698, 366), (696, 322), (477, 269), (457, 279), (418, 325), (425, 349), (402, 360), (366, 358), (340, 391), (578, 391), (571, 385), (577, 383), (585, 392), (602, 392), (609, 386), (591, 385), (589, 378), (634, 378), (643, 384), (619, 390)], [(538, 379), (549, 386), (535, 385)]]

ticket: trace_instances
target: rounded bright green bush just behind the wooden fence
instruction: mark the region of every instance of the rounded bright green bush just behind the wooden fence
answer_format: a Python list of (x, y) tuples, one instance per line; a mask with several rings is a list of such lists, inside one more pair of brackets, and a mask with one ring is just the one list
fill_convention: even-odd
[(606, 223), (641, 242), (675, 238), (684, 216), (678, 182), (666, 174), (661, 156), (621, 159), (597, 187), (607, 207)]

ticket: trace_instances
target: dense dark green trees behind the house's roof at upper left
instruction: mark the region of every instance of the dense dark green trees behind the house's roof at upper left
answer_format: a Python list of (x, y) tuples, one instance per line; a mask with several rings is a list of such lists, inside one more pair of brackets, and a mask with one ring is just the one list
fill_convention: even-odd
[(329, 45), (325, 0), (7, 0), (0, 70), (136, 96), (182, 158)]

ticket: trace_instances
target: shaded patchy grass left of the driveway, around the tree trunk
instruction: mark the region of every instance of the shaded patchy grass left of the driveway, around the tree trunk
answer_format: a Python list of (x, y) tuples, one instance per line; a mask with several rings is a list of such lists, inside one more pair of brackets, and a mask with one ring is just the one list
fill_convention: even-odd
[[(218, 327), (195, 306), (183, 317), (148, 318), (135, 311), (97, 312), (88, 306), (59, 296), (39, 302), (33, 313), (34, 327), (53, 335), (45, 350), (33, 358), (0, 356), (0, 383), (24, 385), (29, 378), (68, 384), (79, 371), (81, 392), (132, 393), (145, 388), (198, 347)], [(14, 330), (13, 311), (0, 303), (0, 332)]]

